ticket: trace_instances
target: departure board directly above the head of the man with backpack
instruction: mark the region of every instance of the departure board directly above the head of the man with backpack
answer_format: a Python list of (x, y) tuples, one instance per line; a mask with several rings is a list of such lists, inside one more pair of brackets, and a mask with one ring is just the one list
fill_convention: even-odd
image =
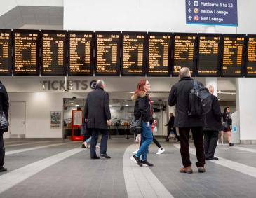
[(173, 76), (177, 76), (182, 67), (188, 67), (194, 76), (196, 67), (197, 34), (173, 34)]

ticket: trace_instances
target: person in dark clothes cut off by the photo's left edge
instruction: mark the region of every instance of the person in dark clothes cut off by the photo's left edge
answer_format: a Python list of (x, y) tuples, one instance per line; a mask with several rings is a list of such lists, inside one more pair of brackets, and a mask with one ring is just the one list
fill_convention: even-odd
[[(9, 111), (9, 98), (8, 94), (6, 92), (6, 87), (1, 83), (0, 81), (0, 111), (4, 111), (4, 115), (6, 115), (6, 118), (8, 120), (8, 111)], [(6, 130), (0, 130), (0, 172), (7, 171), (6, 168), (4, 168), (4, 139), (3, 134), (4, 132), (7, 132)]]

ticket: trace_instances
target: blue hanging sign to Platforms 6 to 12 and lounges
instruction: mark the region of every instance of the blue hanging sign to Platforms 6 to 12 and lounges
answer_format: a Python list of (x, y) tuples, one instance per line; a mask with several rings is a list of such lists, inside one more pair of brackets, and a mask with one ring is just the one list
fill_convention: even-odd
[(237, 26), (237, 0), (186, 0), (186, 23)]

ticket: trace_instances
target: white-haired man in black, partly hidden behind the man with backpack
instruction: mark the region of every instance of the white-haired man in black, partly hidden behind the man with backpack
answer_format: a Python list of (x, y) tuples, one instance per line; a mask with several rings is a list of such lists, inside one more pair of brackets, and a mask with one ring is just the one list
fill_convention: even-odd
[(204, 150), (206, 160), (218, 160), (217, 157), (214, 157), (214, 153), (217, 146), (219, 131), (222, 129), (222, 112), (220, 111), (220, 104), (217, 97), (213, 95), (213, 85), (209, 85), (208, 90), (210, 94), (212, 94), (212, 109), (206, 114), (206, 125), (203, 127)]

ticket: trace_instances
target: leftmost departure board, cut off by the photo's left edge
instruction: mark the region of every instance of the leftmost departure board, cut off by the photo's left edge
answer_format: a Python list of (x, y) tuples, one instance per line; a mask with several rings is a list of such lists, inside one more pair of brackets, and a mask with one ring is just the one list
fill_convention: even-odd
[(0, 29), (0, 76), (11, 75), (11, 30)]

